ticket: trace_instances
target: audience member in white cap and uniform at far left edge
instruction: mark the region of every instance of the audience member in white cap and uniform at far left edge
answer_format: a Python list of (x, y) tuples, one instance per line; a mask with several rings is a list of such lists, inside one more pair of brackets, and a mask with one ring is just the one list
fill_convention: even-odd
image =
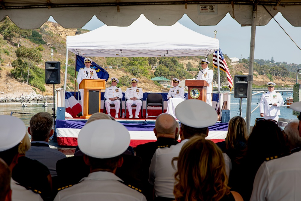
[[(26, 127), (23, 121), (17, 117), (0, 115), (0, 158), (9, 166), (10, 171), (17, 164), (19, 156), (18, 148), (21, 140), (26, 134)], [(28, 174), (27, 172), (23, 172)], [(42, 201), (39, 192), (34, 193), (21, 186), (11, 178), (11, 200)]]

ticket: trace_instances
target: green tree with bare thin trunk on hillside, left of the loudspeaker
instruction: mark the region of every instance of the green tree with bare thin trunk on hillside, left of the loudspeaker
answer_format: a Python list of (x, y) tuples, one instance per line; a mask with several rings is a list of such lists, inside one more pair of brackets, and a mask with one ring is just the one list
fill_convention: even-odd
[(24, 46), (16, 49), (15, 53), (17, 58), (20, 58), (26, 64), (27, 84), (29, 84), (30, 68), (33, 67), (35, 63), (42, 61), (42, 54), (36, 48), (26, 48)]

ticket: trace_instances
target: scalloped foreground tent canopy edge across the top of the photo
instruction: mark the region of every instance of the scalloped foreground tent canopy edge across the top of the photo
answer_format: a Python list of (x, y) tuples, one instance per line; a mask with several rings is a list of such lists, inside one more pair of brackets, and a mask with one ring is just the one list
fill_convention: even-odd
[(301, 26), (301, 0), (2, 0), (0, 20), (7, 15), (20, 28), (37, 29), (52, 16), (64, 28), (81, 28), (94, 15), (108, 26), (129, 26), (141, 13), (156, 25), (175, 24), (187, 14), (203, 26), (218, 24), (229, 12), (239, 24), (250, 26), (253, 2), (258, 2), (257, 26), (272, 19), (268, 12), (281, 12), (290, 24)]

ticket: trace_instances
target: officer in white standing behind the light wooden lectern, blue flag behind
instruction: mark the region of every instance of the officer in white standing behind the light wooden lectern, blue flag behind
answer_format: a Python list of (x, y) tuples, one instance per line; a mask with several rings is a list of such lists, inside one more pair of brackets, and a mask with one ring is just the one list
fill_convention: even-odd
[[(79, 84), (83, 79), (98, 79), (95, 69), (90, 68), (92, 59), (84, 58), (85, 68), (78, 71), (76, 81)], [(84, 115), (84, 90), (80, 89), (80, 99), (82, 100), (82, 115)]]

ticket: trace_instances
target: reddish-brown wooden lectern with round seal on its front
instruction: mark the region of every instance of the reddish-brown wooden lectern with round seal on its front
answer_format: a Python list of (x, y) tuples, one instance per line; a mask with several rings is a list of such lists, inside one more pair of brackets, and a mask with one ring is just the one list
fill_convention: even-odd
[(185, 85), (188, 86), (188, 99), (206, 102), (209, 84), (205, 80), (186, 80)]

